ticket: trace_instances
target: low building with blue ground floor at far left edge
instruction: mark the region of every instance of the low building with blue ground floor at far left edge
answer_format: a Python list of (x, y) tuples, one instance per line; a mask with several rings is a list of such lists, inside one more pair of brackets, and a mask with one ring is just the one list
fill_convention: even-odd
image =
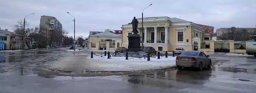
[(21, 36), (0, 28), (0, 50), (21, 49)]

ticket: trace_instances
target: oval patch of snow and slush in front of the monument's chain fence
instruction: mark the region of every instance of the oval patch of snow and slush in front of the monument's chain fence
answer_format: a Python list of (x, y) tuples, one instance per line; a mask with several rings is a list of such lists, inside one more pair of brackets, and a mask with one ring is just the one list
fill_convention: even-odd
[(175, 66), (176, 57), (161, 57), (160, 59), (150, 57), (147, 58), (133, 58), (128, 57), (110, 57), (107, 56), (65, 56), (58, 60), (47, 62), (43, 67), (47, 69), (55, 69), (60, 71), (72, 72), (127, 72), (127, 71), (148, 71), (165, 69)]

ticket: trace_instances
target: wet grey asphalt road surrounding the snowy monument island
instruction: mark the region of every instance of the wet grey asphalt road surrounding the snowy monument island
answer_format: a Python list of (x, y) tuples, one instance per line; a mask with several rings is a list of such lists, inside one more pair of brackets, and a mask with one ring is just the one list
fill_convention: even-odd
[[(255, 93), (256, 58), (210, 55), (212, 67), (152, 72), (139, 75), (72, 77), (33, 71), (53, 55), (88, 55), (89, 50), (62, 49), (0, 53), (0, 93)], [(34, 54), (33, 54), (34, 53)], [(8, 59), (9, 58), (9, 59)], [(8, 61), (6, 60), (8, 59)], [(251, 81), (240, 81), (246, 78)]]

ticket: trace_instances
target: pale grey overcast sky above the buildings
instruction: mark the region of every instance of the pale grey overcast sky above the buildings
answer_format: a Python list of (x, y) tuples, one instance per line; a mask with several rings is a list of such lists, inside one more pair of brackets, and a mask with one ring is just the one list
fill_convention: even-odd
[[(25, 16), (29, 27), (40, 24), (40, 16), (57, 18), (69, 35), (88, 37), (89, 31), (120, 30), (133, 17), (176, 17), (218, 28), (255, 28), (256, 0), (1, 0), (0, 28), (12, 30)], [(214, 31), (215, 32), (215, 31)]]

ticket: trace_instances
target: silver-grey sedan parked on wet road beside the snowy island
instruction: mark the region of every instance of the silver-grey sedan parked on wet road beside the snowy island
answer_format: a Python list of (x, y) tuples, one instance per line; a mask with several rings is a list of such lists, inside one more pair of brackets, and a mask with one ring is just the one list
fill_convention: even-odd
[(211, 67), (211, 58), (201, 51), (184, 51), (180, 56), (176, 57), (176, 66), (178, 69), (182, 67), (197, 67), (202, 70), (203, 67)]

